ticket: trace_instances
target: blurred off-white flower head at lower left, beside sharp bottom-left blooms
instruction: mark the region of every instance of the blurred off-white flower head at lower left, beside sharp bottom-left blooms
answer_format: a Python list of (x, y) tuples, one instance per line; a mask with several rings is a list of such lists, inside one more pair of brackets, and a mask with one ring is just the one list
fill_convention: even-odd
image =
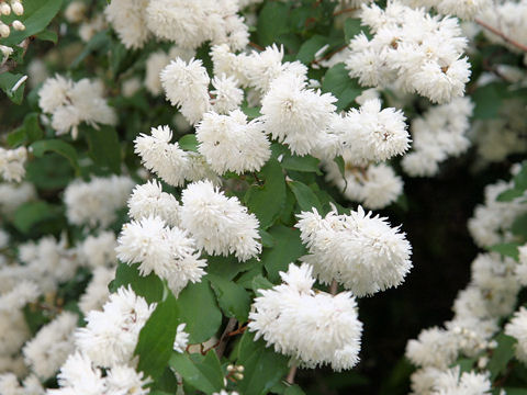
[(77, 314), (64, 312), (25, 343), (22, 349), (25, 363), (38, 377), (46, 380), (53, 376), (74, 351), (77, 320)]

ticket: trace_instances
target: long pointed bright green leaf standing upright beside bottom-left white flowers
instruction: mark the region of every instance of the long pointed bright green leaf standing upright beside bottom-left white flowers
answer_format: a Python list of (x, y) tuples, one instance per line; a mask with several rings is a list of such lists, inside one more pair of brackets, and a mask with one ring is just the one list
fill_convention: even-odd
[(153, 380), (161, 376), (167, 366), (172, 354), (178, 324), (180, 324), (176, 298), (169, 290), (165, 291), (166, 298), (157, 304), (156, 309), (141, 329), (134, 352), (139, 356), (137, 369)]

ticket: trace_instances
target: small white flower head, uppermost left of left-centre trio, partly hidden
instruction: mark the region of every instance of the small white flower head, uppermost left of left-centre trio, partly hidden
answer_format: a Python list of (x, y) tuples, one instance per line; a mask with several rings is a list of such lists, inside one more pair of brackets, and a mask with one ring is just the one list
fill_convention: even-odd
[(134, 188), (128, 208), (133, 219), (159, 216), (169, 226), (179, 225), (179, 202), (170, 193), (162, 192), (161, 184), (156, 180)]

